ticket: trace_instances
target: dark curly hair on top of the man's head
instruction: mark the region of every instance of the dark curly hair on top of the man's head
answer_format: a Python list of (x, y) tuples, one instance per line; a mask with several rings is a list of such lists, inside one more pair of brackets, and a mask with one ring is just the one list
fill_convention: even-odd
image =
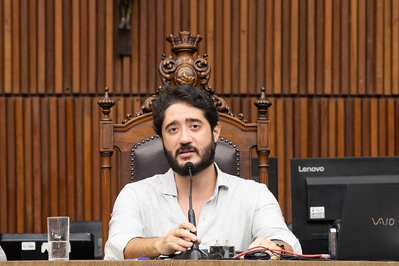
[(211, 126), (211, 131), (213, 131), (219, 121), (219, 113), (208, 92), (189, 84), (179, 86), (166, 85), (159, 89), (157, 97), (153, 100), (151, 106), (153, 128), (160, 137), (162, 137), (162, 123), (165, 119), (165, 111), (175, 103), (184, 103), (201, 109)]

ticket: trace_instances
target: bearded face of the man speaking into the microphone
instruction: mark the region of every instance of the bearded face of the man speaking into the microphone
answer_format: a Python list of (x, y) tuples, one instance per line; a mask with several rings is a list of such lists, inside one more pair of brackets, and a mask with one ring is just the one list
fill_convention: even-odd
[(220, 124), (211, 132), (203, 111), (182, 103), (171, 105), (162, 124), (165, 157), (174, 172), (188, 176), (186, 162), (194, 164), (193, 175), (209, 167), (215, 157)]

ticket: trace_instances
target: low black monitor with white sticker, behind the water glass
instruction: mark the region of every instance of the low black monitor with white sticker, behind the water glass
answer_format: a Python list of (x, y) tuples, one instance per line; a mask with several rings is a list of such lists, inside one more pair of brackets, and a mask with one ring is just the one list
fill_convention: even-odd
[[(90, 233), (69, 234), (69, 260), (93, 260), (94, 240)], [(47, 234), (0, 234), (7, 261), (48, 260)]]

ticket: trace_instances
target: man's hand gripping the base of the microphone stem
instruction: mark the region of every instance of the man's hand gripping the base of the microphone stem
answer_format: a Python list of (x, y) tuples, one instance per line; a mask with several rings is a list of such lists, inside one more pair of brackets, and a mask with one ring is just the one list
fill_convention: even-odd
[(176, 251), (186, 251), (193, 246), (191, 241), (198, 241), (198, 244), (200, 244), (201, 241), (197, 236), (187, 229), (191, 232), (197, 231), (193, 224), (187, 221), (170, 230), (166, 237), (162, 238), (162, 241), (157, 242), (158, 245), (155, 248), (159, 254), (171, 255)]

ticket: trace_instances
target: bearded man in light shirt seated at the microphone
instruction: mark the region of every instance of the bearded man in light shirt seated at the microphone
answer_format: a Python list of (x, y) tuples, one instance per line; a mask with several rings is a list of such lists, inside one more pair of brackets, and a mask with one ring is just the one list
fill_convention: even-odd
[[(238, 251), (259, 246), (279, 250), (277, 245), (282, 244), (285, 250), (302, 252), (267, 187), (225, 174), (214, 163), (221, 126), (207, 92), (191, 85), (165, 86), (152, 111), (154, 129), (171, 169), (122, 189), (111, 215), (104, 259), (156, 258), (186, 251), (192, 241), (209, 249), (216, 240), (228, 240)], [(197, 227), (187, 217), (190, 177), (186, 162), (194, 165), (192, 202)]]

